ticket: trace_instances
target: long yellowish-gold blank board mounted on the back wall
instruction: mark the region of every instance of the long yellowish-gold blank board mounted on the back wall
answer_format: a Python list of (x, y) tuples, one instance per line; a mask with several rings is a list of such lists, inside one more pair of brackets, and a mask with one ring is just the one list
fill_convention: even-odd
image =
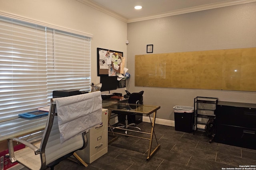
[(136, 55), (135, 86), (256, 91), (256, 48)]

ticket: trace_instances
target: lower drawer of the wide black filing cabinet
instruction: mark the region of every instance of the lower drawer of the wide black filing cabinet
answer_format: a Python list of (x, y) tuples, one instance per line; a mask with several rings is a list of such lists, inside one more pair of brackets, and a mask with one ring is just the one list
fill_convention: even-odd
[(216, 125), (215, 141), (227, 145), (256, 149), (256, 129), (231, 125)]

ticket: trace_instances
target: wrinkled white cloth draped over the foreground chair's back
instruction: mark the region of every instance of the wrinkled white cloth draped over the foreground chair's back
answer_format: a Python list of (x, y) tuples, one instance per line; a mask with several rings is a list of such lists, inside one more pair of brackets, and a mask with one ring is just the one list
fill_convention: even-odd
[(60, 142), (98, 125), (102, 121), (101, 92), (54, 98), (56, 101)]

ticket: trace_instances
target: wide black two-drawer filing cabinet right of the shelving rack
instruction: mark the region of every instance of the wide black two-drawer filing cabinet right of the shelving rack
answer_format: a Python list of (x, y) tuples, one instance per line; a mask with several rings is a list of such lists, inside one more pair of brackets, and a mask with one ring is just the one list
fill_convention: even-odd
[(215, 141), (256, 149), (256, 104), (219, 101)]

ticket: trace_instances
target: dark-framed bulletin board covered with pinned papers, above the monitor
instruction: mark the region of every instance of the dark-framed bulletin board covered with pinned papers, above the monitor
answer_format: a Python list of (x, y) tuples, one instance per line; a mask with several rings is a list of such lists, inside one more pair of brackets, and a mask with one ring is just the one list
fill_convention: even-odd
[(116, 76), (124, 73), (123, 52), (97, 48), (98, 76)]

